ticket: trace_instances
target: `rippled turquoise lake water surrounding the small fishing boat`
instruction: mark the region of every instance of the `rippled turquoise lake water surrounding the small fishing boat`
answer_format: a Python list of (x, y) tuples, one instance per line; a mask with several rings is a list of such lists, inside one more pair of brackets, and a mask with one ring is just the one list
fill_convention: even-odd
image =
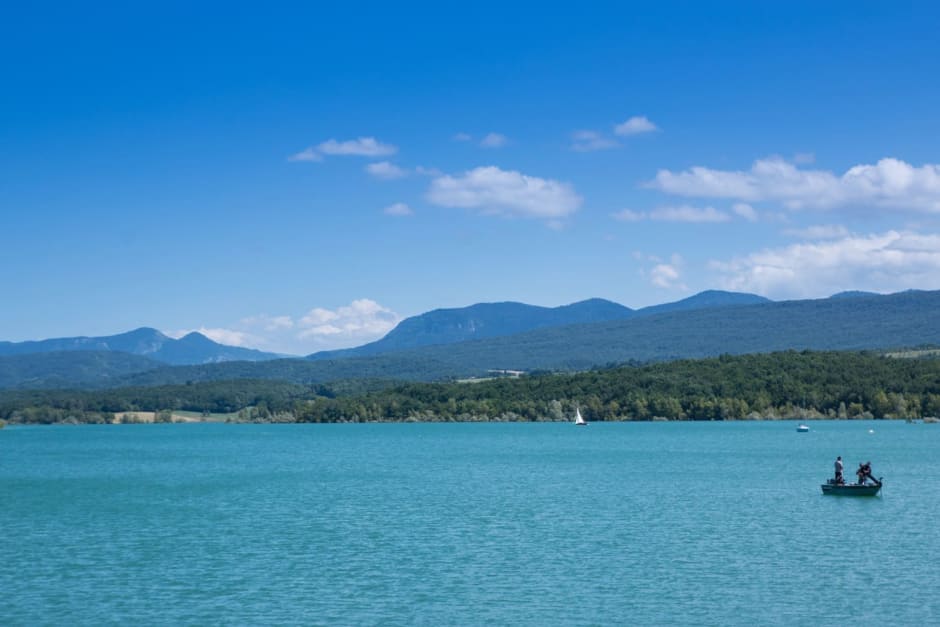
[(7, 427), (0, 621), (940, 624), (940, 425), (809, 424)]

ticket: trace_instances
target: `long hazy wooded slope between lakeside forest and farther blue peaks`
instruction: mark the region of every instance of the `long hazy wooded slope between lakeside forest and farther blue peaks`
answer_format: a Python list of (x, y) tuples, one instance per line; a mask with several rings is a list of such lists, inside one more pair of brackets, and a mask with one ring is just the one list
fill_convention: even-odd
[[(667, 311), (373, 356), (163, 366), (102, 377), (97, 383), (86, 379), (82, 385), (150, 386), (227, 379), (303, 384), (363, 378), (435, 381), (485, 375), (493, 369), (572, 371), (721, 354), (925, 345), (940, 346), (940, 291)], [(11, 385), (11, 380), (8, 376), (6, 387), (23, 387)]]

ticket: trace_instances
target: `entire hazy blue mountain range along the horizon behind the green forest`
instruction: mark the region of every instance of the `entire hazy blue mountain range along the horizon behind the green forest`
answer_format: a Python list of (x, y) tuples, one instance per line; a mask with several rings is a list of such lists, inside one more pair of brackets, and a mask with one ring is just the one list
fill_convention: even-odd
[[(557, 308), (488, 303), (409, 318), (385, 338), (356, 349), (265, 361), (226, 361), (219, 355), (270, 354), (224, 347), (204, 336), (167, 346), (169, 338), (143, 329), (112, 338), (0, 343), (0, 354), (11, 346), (22, 353), (24, 345), (57, 351), (0, 357), (0, 388), (151, 386), (247, 378), (305, 384), (367, 378), (430, 381), (480, 376), (491, 370), (571, 371), (723, 353), (940, 345), (938, 312), (940, 292), (918, 291), (887, 296), (843, 293), (783, 302), (703, 292), (638, 310), (600, 299)], [(155, 337), (164, 338), (159, 346)], [(107, 348), (88, 350), (102, 344)], [(129, 360), (131, 350), (146, 352)], [(190, 359), (190, 363), (156, 361), (161, 357), (176, 364)]]

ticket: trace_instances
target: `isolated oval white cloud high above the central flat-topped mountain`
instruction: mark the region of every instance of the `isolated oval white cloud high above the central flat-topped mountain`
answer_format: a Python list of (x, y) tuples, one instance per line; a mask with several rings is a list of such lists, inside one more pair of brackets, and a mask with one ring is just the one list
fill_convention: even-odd
[(581, 205), (581, 197), (568, 183), (495, 166), (475, 168), (457, 177), (438, 177), (431, 181), (427, 198), (443, 207), (544, 219), (564, 218)]

